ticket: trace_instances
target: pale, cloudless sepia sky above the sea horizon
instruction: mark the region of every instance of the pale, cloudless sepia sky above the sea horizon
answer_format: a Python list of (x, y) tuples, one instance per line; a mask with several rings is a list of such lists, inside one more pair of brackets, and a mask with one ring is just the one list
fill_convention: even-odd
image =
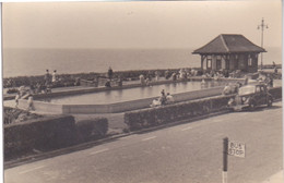
[(281, 0), (4, 2), (3, 48), (199, 48), (220, 34), (282, 45)]

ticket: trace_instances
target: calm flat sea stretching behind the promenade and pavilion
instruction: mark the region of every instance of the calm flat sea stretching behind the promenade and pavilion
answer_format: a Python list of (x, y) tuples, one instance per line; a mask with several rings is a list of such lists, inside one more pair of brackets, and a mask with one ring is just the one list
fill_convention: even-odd
[[(46, 70), (58, 74), (200, 68), (197, 48), (175, 49), (20, 49), (4, 48), (3, 77), (43, 75)], [(282, 63), (282, 48), (265, 48), (263, 64)], [(260, 56), (259, 56), (260, 63)]]

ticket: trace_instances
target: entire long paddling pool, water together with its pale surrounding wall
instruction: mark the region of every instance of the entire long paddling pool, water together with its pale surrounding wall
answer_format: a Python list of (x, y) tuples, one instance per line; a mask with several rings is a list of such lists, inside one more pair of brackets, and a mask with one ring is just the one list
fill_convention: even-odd
[[(162, 89), (170, 93), (177, 102), (222, 94), (226, 83), (236, 83), (240, 80), (176, 82), (167, 84), (156, 83), (153, 86), (123, 86), (113, 89), (93, 88), (87, 94), (67, 94), (44, 96), (34, 100), (36, 111), (48, 113), (114, 113), (147, 108), (153, 99), (161, 96)], [(241, 81), (240, 81), (241, 82)], [(20, 100), (21, 108), (27, 107), (26, 100)]]

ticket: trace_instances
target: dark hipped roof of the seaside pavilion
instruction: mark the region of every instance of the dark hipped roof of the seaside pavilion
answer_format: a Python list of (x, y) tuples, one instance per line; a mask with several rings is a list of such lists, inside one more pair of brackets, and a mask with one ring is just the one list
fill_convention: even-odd
[(267, 52), (265, 49), (252, 44), (242, 35), (221, 34), (209, 44), (192, 53), (236, 53), (236, 52)]

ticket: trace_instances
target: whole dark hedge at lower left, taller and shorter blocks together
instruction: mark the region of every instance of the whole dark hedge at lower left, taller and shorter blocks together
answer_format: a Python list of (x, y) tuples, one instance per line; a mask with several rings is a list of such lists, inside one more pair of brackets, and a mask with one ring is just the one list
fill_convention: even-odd
[(105, 118), (75, 122), (72, 115), (43, 117), (4, 125), (5, 160), (102, 138), (108, 131)]

